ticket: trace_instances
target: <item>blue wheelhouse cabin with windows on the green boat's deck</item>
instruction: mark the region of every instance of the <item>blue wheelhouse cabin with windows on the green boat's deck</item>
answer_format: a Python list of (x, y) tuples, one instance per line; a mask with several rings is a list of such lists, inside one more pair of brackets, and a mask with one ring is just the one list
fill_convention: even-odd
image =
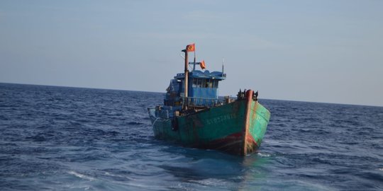
[(195, 69), (189, 71), (188, 96), (184, 97), (185, 74), (179, 73), (170, 81), (164, 100), (164, 105), (172, 107), (182, 107), (187, 104), (195, 108), (208, 108), (221, 103), (218, 100), (218, 83), (226, 79), (226, 74), (221, 71), (199, 71)]

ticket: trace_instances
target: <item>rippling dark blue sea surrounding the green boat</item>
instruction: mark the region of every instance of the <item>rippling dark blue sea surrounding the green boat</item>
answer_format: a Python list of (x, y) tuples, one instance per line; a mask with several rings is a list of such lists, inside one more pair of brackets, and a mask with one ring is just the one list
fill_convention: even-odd
[(154, 139), (163, 96), (0, 83), (0, 190), (383, 190), (382, 107), (261, 99), (240, 157)]

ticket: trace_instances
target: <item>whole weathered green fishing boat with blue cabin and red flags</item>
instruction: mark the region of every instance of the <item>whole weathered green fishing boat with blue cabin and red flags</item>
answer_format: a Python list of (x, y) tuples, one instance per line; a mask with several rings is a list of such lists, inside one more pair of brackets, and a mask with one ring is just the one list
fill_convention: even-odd
[(218, 98), (218, 83), (226, 79), (223, 66), (222, 71), (210, 72), (204, 61), (196, 62), (195, 53), (194, 62), (189, 62), (188, 52), (194, 51), (195, 44), (182, 50), (184, 73), (171, 79), (163, 105), (148, 108), (155, 138), (240, 156), (254, 153), (265, 135), (269, 110), (252, 90), (240, 90), (236, 98)]

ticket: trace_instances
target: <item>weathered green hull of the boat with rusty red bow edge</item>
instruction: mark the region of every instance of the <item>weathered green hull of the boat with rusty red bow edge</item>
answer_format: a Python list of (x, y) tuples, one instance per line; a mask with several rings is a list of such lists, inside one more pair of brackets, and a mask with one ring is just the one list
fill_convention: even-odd
[(270, 112), (252, 98), (246, 98), (171, 119), (154, 115), (150, 118), (157, 139), (245, 156), (259, 148)]

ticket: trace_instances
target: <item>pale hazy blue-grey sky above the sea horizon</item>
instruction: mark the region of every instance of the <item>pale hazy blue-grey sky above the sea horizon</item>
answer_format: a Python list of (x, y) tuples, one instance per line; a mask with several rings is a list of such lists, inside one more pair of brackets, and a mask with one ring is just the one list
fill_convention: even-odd
[(0, 1), (0, 82), (165, 92), (181, 50), (220, 95), (383, 106), (383, 1)]

